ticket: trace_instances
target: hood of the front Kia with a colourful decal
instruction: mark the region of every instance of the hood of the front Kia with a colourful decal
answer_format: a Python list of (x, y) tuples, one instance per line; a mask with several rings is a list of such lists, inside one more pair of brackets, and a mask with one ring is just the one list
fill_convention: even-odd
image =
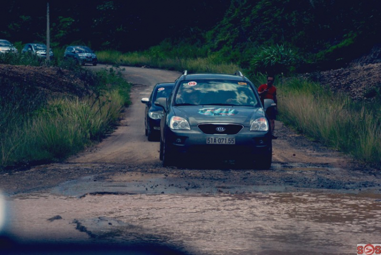
[(240, 123), (249, 126), (251, 120), (265, 116), (262, 108), (243, 106), (174, 106), (173, 112), (187, 119), (191, 126), (200, 123)]

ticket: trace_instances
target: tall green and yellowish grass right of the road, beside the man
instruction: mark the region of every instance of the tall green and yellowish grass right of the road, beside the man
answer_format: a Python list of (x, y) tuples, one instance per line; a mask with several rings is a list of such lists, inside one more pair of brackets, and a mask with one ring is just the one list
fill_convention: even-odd
[(381, 162), (380, 108), (353, 102), (304, 79), (288, 79), (277, 87), (278, 109), (285, 123), (359, 160)]

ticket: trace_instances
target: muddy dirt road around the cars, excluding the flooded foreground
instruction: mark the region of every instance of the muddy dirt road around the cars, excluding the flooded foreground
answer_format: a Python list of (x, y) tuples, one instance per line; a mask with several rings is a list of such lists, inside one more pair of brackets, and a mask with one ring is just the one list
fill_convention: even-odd
[[(89, 68), (96, 70), (106, 66)], [(273, 140), (270, 170), (244, 169), (235, 162), (224, 160), (163, 168), (158, 159), (159, 143), (148, 142), (144, 135), (144, 105), (140, 99), (149, 96), (155, 83), (174, 81), (180, 73), (128, 67), (121, 72), (133, 83), (132, 105), (125, 109), (115, 132), (66, 162), (0, 173), (0, 187), (4, 193), (14, 195), (51, 190), (73, 196), (97, 192), (381, 194), (380, 171), (311, 141), (280, 121), (276, 122), (278, 139)]]

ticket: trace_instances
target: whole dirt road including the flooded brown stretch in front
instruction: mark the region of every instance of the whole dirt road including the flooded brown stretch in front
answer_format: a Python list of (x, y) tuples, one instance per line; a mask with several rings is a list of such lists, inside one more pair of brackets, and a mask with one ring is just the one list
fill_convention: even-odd
[(158, 142), (144, 135), (140, 99), (179, 73), (122, 73), (134, 84), (132, 105), (111, 136), (66, 162), (0, 173), (13, 212), (10, 233), (53, 242), (166, 243), (194, 254), (347, 254), (356, 243), (379, 241), (379, 171), (279, 121), (270, 170), (225, 161), (163, 168)]

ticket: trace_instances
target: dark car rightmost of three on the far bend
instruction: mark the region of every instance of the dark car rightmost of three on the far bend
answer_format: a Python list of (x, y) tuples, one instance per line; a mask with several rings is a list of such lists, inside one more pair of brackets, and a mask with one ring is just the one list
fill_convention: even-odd
[(64, 59), (73, 59), (78, 64), (84, 66), (86, 63), (91, 63), (93, 66), (97, 66), (97, 55), (87, 46), (69, 46), (63, 53)]

